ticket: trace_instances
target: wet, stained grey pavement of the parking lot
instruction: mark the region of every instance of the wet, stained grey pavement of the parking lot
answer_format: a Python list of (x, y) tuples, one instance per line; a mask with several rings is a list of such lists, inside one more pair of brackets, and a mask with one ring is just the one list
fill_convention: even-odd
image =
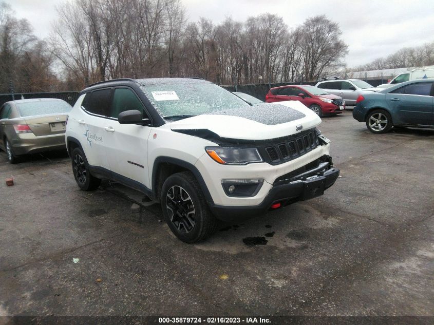
[(320, 129), (341, 169), (323, 197), (198, 244), (140, 193), (81, 192), (65, 152), (0, 152), (0, 315), (434, 316), (434, 131)]

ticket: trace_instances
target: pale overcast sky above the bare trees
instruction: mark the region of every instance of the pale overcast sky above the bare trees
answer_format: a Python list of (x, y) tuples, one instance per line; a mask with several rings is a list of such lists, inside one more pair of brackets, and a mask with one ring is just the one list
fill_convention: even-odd
[[(27, 18), (36, 36), (49, 35), (56, 18), (56, 0), (5, 0), (18, 17)], [(275, 13), (289, 28), (319, 14), (336, 21), (349, 45), (348, 66), (369, 63), (402, 47), (434, 41), (432, 0), (182, 0), (189, 21), (199, 17), (219, 23), (227, 16), (244, 21), (248, 16)]]

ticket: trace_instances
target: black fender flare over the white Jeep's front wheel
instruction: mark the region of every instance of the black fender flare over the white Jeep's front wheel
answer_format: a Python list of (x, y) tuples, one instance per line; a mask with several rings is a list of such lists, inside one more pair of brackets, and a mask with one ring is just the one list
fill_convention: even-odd
[(210, 190), (206, 186), (205, 181), (203, 180), (202, 175), (200, 174), (199, 170), (196, 168), (195, 165), (186, 162), (181, 159), (173, 158), (173, 157), (166, 157), (166, 156), (159, 156), (154, 161), (154, 166), (152, 169), (152, 193), (154, 197), (157, 197), (157, 170), (160, 164), (162, 163), (169, 163), (173, 165), (180, 166), (182, 168), (185, 168), (193, 173), (193, 175), (196, 177), (200, 188), (202, 189), (202, 193), (205, 197), (206, 202), (208, 202), (209, 205), (214, 205), (214, 200), (211, 197)]

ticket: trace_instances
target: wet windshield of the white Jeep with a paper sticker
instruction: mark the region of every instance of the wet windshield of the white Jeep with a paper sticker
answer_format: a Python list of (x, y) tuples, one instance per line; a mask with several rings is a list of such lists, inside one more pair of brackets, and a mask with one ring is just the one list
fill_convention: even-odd
[(163, 118), (195, 116), (223, 109), (251, 107), (213, 83), (165, 83), (140, 88)]

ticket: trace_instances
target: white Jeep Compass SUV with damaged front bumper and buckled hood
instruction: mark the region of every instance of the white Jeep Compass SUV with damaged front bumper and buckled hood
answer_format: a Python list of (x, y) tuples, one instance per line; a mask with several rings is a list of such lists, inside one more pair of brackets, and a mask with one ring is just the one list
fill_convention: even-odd
[(251, 106), (201, 79), (117, 79), (90, 85), (69, 113), (78, 186), (107, 178), (161, 203), (184, 242), (324, 193), (339, 170), (320, 118), (298, 101)]

